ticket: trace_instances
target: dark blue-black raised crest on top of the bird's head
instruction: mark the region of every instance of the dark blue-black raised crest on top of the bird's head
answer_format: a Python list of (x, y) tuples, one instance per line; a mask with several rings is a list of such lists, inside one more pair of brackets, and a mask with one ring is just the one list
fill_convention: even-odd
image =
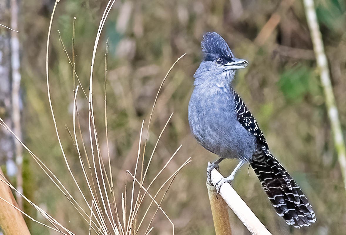
[(204, 53), (204, 60), (215, 60), (219, 57), (225, 59), (234, 58), (225, 39), (215, 32), (204, 34), (201, 46)]

